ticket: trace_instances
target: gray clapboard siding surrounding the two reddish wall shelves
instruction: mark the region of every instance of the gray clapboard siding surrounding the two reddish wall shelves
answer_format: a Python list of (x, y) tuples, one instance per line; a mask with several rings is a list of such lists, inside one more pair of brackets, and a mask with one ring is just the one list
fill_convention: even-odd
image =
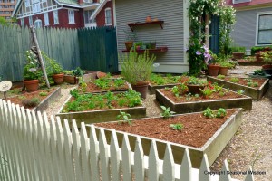
[(128, 23), (145, 22), (146, 16), (163, 20), (163, 29), (159, 24), (150, 24), (135, 27), (137, 41), (149, 43), (156, 41), (157, 46), (168, 46), (165, 53), (158, 53), (157, 62), (161, 64), (184, 63), (184, 41), (183, 41), (183, 1), (160, 1), (160, 0), (115, 0), (116, 28), (118, 52), (125, 49), (125, 33), (131, 31)]

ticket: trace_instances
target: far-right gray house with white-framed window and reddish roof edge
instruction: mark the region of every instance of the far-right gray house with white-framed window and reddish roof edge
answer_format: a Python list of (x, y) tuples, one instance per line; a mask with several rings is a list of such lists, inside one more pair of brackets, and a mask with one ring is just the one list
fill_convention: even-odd
[(236, 24), (231, 36), (234, 43), (247, 48), (272, 44), (271, 0), (226, 0), (236, 9)]

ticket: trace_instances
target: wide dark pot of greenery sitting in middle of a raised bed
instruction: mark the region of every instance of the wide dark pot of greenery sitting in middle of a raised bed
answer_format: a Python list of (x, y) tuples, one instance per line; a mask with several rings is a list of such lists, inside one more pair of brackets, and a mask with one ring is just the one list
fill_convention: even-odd
[(199, 80), (196, 77), (189, 77), (187, 81), (187, 87), (191, 94), (201, 94), (201, 90), (204, 90), (207, 85), (207, 81)]

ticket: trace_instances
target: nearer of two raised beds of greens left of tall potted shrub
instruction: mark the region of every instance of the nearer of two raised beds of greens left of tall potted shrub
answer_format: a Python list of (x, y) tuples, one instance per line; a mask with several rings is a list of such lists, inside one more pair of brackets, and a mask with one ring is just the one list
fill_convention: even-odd
[(146, 108), (142, 106), (139, 93), (129, 90), (127, 92), (105, 94), (82, 94), (73, 90), (71, 96), (65, 101), (56, 116), (61, 119), (76, 119), (80, 122), (95, 123), (116, 120), (120, 111), (131, 114), (133, 119), (146, 116)]

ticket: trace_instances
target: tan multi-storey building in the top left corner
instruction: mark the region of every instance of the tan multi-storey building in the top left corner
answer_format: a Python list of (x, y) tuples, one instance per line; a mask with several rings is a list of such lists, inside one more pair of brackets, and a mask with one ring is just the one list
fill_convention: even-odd
[(0, 0), (0, 17), (9, 20), (15, 9), (16, 0)]

